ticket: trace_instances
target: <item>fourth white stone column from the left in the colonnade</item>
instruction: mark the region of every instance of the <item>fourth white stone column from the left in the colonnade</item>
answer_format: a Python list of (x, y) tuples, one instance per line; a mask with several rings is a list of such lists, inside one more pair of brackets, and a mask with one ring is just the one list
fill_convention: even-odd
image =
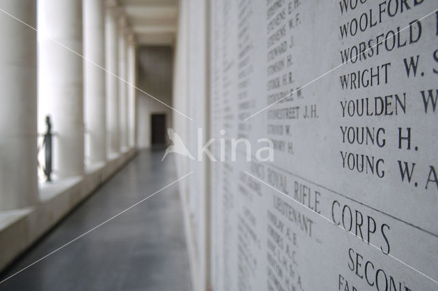
[(120, 118), (118, 115), (118, 8), (107, 1), (105, 16), (105, 68), (107, 93), (108, 153), (120, 153)]

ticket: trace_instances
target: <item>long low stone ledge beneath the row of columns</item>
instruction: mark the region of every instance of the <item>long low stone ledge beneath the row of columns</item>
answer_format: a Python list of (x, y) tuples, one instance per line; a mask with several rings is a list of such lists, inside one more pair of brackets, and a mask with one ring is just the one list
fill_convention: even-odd
[(20, 210), (0, 211), (0, 270), (49, 231), (136, 155), (130, 149), (106, 164), (93, 164), (81, 177), (40, 184), (40, 203)]

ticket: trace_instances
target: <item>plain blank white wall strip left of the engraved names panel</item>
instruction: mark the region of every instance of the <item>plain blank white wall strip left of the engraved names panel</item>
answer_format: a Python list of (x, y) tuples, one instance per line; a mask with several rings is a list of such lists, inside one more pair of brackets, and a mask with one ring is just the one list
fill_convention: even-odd
[[(209, 290), (210, 164), (204, 155), (198, 160), (198, 138), (209, 140), (209, 51), (208, 2), (180, 1), (173, 100), (175, 131), (195, 157), (175, 156), (179, 177), (191, 173), (179, 183), (185, 217), (185, 236), (190, 255), (194, 290)], [(183, 116), (185, 114), (185, 116)], [(198, 130), (199, 129), (199, 130)], [(198, 134), (202, 134), (198, 136)]]

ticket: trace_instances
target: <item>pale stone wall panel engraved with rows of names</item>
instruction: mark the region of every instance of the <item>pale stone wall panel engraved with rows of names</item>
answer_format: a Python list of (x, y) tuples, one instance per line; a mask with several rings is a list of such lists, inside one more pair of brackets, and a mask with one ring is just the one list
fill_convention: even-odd
[(437, 9), (211, 1), (213, 290), (438, 290)]

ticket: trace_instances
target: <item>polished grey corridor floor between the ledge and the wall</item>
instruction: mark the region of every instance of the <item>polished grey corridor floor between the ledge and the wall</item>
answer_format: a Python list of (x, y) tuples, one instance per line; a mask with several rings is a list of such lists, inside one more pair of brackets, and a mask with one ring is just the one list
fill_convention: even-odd
[[(175, 181), (174, 160), (161, 162), (163, 154), (140, 151), (1, 277), (21, 270)], [(174, 184), (157, 193), (0, 284), (0, 290), (191, 290), (177, 188)]]

